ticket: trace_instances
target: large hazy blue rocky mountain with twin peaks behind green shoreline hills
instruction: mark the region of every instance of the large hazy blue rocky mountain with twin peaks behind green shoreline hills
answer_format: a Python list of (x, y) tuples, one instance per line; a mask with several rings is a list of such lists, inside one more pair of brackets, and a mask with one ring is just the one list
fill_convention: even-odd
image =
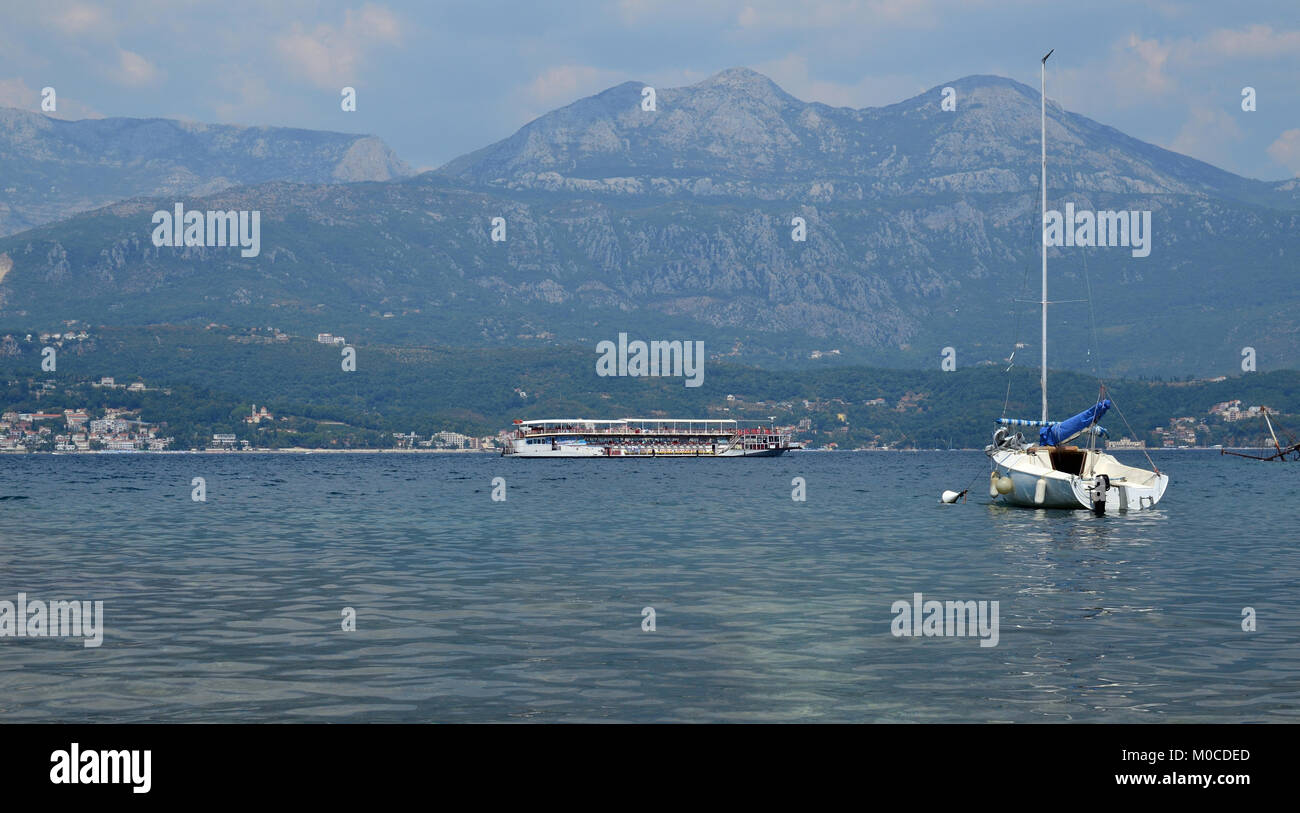
[[(0, 239), (0, 327), (216, 320), (450, 345), (627, 332), (771, 366), (840, 350), (928, 368), (945, 346), (961, 366), (1004, 359), (1037, 341), (1036, 308), (1015, 300), (1037, 298), (1039, 95), (998, 77), (948, 85), (956, 112), (940, 87), (854, 111), (732, 69), (658, 88), (649, 112), (642, 85), (624, 83), (415, 178), (382, 144), (344, 140), (358, 137), (303, 134), (312, 150), (274, 142), (283, 150), (247, 163), (254, 139), (213, 137), (221, 157), (198, 161), (181, 125), (153, 124), (172, 133), (157, 160), (199, 191), (140, 189)], [(1092, 298), (1053, 308), (1053, 366), (1227, 373), (1253, 346), (1261, 369), (1294, 367), (1300, 185), (1242, 178), (1050, 103), (1048, 116), (1049, 208), (1153, 213), (1150, 256), (1049, 251), (1052, 298)], [(0, 130), (0, 156), (14, 152)], [(27, 187), (69, 152), (30, 163)], [(296, 163), (276, 157), (289, 153)], [(208, 180), (243, 186), (204, 194)], [(346, 180), (370, 182), (332, 183)], [(260, 256), (155, 247), (150, 216), (176, 200), (260, 209)], [(493, 217), (504, 242), (489, 237)]]

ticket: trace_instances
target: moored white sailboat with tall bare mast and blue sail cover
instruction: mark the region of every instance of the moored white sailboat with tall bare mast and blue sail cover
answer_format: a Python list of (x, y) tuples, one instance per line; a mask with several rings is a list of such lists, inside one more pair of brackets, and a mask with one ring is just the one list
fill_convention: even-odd
[[(1041, 183), (1043, 224), (1048, 212), (1048, 112), (1046, 70), (1048, 57), (1043, 57), (1041, 95)], [(1000, 418), (992, 445), (984, 453), (992, 462), (989, 497), (994, 503), (1032, 509), (1091, 509), (1106, 511), (1136, 511), (1160, 502), (1169, 486), (1169, 476), (1160, 472), (1148, 455), (1150, 470), (1124, 466), (1114, 457), (1096, 449), (1096, 438), (1105, 434), (1098, 420), (1113, 402), (1105, 397), (1105, 388), (1091, 407), (1062, 421), (1048, 419), (1048, 246), (1043, 245), (1043, 362), (1040, 384), (1043, 389), (1041, 420)], [(1015, 427), (1036, 427), (1036, 442), (1026, 441)], [(1070, 441), (1087, 434), (1088, 445), (1080, 449)]]

